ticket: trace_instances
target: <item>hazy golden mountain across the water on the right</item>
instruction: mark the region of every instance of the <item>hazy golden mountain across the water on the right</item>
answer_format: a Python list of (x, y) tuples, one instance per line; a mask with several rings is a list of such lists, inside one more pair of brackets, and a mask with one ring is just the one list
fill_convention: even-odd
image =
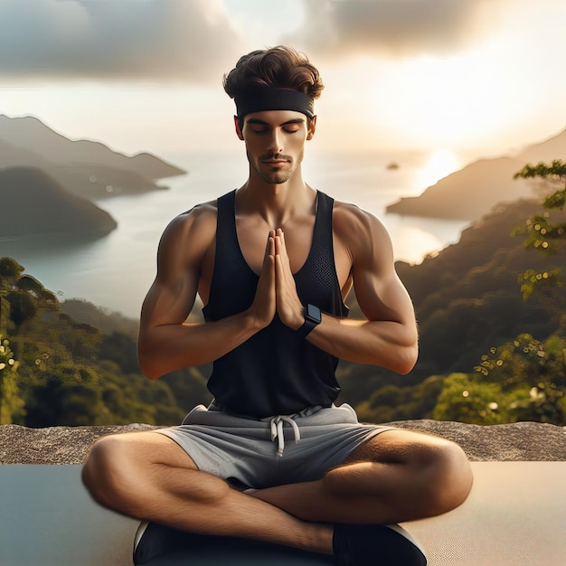
[(407, 216), (429, 216), (476, 220), (498, 203), (533, 197), (536, 184), (513, 175), (527, 163), (566, 158), (566, 130), (540, 144), (528, 146), (517, 156), (480, 159), (440, 179), (420, 196), (402, 198), (387, 212)]

